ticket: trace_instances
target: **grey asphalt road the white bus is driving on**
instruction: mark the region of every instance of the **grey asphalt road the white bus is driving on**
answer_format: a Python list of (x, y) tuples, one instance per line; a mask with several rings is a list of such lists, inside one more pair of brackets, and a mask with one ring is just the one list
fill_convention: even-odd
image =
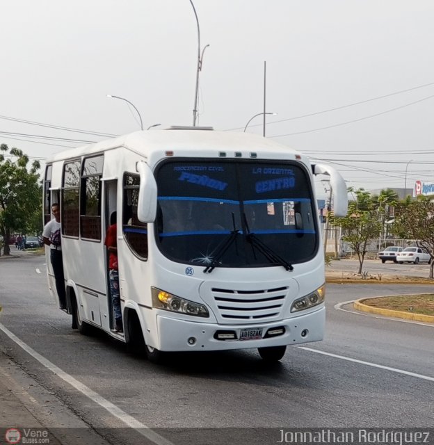
[(0, 350), (113, 444), (274, 444), (281, 428), (433, 426), (434, 326), (347, 304), (426, 285), (328, 285), (325, 340), (289, 348), (279, 364), (242, 350), (155, 365), (105, 334), (72, 330), (44, 261), (0, 260)]

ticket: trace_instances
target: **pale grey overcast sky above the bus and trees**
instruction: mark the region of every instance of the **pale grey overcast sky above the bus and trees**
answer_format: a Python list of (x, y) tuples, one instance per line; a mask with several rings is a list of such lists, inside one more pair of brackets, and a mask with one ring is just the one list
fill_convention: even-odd
[[(193, 3), (204, 51), (198, 125), (243, 131), (264, 112), (265, 90), (266, 113), (277, 113), (266, 115), (266, 137), (330, 163), (348, 186), (434, 182), (433, 1)], [(199, 39), (190, 0), (0, 8), (0, 143), (43, 163), (140, 129), (136, 110), (106, 95), (134, 104), (145, 129), (193, 123)], [(262, 134), (262, 124), (259, 115), (246, 131)], [(316, 184), (321, 197), (327, 185)]]

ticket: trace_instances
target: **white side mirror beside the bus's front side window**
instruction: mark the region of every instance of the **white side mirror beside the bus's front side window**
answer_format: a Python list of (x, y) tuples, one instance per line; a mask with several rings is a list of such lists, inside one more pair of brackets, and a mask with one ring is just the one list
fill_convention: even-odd
[(156, 181), (149, 165), (138, 162), (136, 170), (140, 175), (138, 189), (137, 218), (142, 223), (154, 223), (156, 216)]

